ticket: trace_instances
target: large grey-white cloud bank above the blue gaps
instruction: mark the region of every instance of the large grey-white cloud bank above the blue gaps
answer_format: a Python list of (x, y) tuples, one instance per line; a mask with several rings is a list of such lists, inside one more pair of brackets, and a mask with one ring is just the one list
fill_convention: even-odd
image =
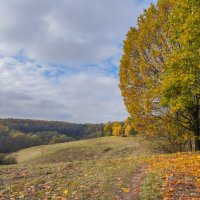
[[(33, 59), (98, 63), (119, 52), (147, 5), (134, 0), (1, 0), (0, 50)], [(149, 3), (148, 3), (149, 4)]]

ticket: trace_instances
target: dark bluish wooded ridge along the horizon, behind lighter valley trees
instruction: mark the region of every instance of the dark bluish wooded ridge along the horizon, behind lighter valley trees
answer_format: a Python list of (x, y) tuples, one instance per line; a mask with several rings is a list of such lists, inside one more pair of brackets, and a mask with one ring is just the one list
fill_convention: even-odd
[(32, 119), (0, 119), (11, 130), (23, 133), (37, 133), (44, 131), (55, 131), (75, 140), (95, 138), (102, 131), (104, 124), (76, 124), (61, 121), (45, 121)]

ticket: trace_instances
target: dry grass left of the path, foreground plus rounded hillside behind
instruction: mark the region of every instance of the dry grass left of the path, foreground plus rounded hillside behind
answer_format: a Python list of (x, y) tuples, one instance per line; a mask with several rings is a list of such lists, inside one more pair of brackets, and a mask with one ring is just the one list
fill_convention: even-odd
[(18, 165), (0, 167), (0, 199), (119, 199), (138, 156), (150, 154), (142, 136), (24, 149)]

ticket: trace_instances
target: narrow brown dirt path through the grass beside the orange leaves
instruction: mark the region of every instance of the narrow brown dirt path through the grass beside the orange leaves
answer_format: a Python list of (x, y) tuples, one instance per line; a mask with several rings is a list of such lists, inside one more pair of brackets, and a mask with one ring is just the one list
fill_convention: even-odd
[(119, 192), (119, 200), (138, 200), (141, 184), (146, 177), (147, 165), (141, 165), (134, 171), (128, 184), (129, 192)]

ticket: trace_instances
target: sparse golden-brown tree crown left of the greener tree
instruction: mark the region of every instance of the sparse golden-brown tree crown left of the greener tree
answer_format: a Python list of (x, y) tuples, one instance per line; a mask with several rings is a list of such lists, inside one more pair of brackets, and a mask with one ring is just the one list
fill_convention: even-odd
[(168, 17), (173, 1), (159, 1), (138, 18), (138, 28), (131, 28), (124, 41), (120, 65), (120, 88), (136, 130), (155, 134), (160, 129), (157, 113), (158, 76), (171, 51)]

